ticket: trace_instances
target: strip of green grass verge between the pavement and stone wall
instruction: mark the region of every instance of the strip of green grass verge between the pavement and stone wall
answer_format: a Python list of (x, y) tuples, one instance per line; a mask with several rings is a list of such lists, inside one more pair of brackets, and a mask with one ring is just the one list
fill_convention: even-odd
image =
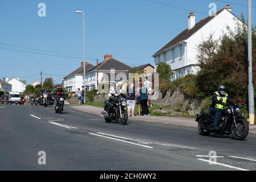
[[(85, 105), (88, 106), (95, 106), (95, 107), (104, 107), (104, 101), (101, 102), (86, 102)], [(154, 110), (159, 109), (158, 105), (154, 105), (151, 107), (150, 109), (150, 115), (154, 115), (154, 116), (168, 116), (168, 117), (185, 117), (185, 118), (194, 118), (195, 116), (193, 115), (189, 115), (187, 113), (180, 113), (180, 114), (160, 114), (160, 113), (154, 113)], [(164, 106), (163, 109), (170, 109), (167, 106)], [(138, 106), (135, 106), (135, 110), (134, 110), (134, 114), (137, 115), (138, 114)]]

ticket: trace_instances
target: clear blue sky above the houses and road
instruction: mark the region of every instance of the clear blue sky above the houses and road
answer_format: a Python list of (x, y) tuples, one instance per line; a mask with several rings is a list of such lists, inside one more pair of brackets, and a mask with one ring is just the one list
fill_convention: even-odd
[[(155, 1), (167, 5), (148, 0), (1, 0), (0, 79), (20, 76), (30, 83), (35, 78), (39, 81), (42, 71), (49, 74), (43, 75), (43, 80), (53, 77), (60, 83), (62, 75), (78, 68), (82, 61), (82, 16), (75, 10), (86, 12), (86, 57), (92, 64), (96, 64), (93, 59), (102, 60), (109, 53), (131, 66), (154, 65), (151, 56), (187, 28), (189, 12), (197, 12), (198, 22), (207, 16), (212, 2), (217, 9), (229, 2), (233, 13), (243, 13), (247, 19), (245, 0)], [(41, 2), (46, 4), (46, 17), (38, 16)]]

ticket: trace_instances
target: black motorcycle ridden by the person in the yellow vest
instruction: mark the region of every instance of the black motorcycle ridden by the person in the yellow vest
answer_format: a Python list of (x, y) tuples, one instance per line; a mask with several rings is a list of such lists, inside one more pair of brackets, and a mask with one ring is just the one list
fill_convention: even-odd
[(197, 114), (198, 130), (201, 135), (208, 136), (210, 133), (232, 135), (236, 140), (243, 140), (249, 133), (249, 124), (237, 105), (230, 106), (222, 110), (221, 117), (218, 121), (218, 130), (213, 129), (214, 115)]

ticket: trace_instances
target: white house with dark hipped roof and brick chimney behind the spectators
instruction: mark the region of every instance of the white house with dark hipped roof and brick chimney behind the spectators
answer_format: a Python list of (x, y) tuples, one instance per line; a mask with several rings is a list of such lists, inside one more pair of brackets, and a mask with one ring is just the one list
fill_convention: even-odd
[[(95, 67), (89, 69), (85, 75), (85, 87), (86, 90), (97, 89), (98, 84), (102, 82), (111, 82), (110, 80), (110, 70), (114, 69), (115, 74), (114, 82), (122, 80), (122, 78), (118, 78), (118, 74), (122, 73), (126, 75), (128, 79), (128, 74), (131, 70), (131, 67), (121, 61), (118, 61), (113, 58), (112, 55), (105, 55), (104, 61), (100, 64), (96, 65)], [(98, 72), (98, 76), (97, 76)]]

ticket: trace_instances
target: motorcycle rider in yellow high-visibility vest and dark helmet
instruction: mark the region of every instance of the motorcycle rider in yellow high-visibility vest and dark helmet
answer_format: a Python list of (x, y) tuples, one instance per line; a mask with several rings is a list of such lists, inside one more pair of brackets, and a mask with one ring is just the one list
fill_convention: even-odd
[(213, 130), (218, 130), (218, 120), (220, 119), (222, 110), (226, 109), (226, 106), (234, 104), (226, 93), (226, 87), (224, 85), (218, 85), (218, 91), (213, 93), (212, 104), (210, 105), (209, 113), (214, 115)]

